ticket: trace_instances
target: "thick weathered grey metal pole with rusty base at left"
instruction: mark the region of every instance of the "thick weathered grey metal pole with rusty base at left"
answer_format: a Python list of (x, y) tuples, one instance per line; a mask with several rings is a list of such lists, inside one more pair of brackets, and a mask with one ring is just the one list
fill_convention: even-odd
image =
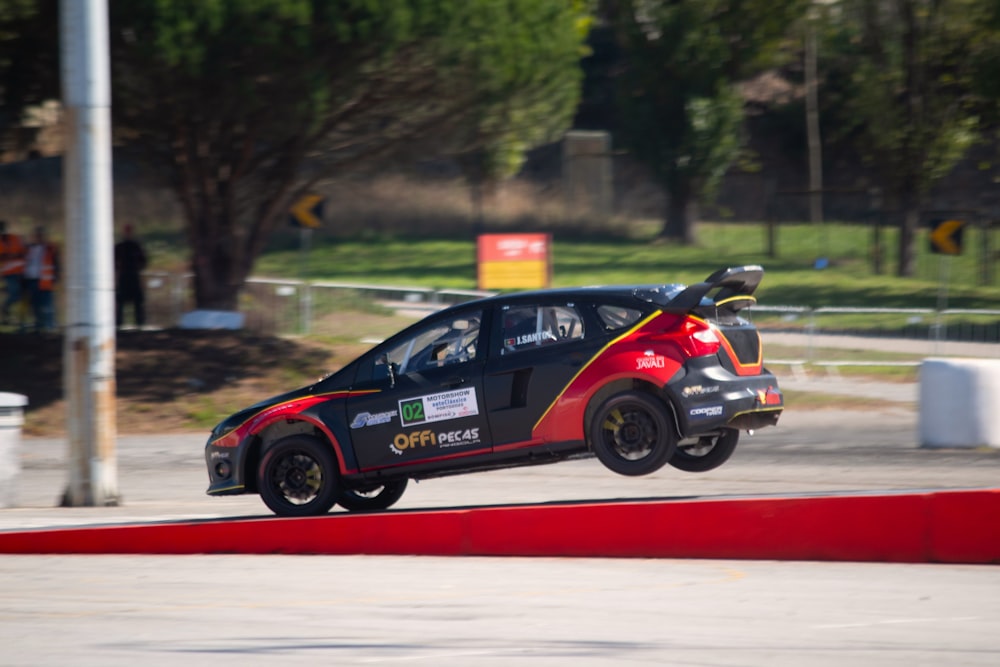
[(117, 505), (111, 74), (107, 0), (60, 0), (70, 478), (63, 503)]

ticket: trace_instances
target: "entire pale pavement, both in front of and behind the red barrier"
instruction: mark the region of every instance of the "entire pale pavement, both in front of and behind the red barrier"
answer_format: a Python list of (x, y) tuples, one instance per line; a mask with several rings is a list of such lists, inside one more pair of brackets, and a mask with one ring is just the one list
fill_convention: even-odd
[[(124, 436), (124, 504), (64, 509), (54, 504), (65, 443), (26, 440), (21, 506), (0, 510), (0, 529), (266, 516), (256, 497), (204, 495), (203, 442), (200, 433)], [(624, 478), (584, 460), (429, 480), (411, 485), (399, 507), (998, 480), (998, 451), (919, 448), (915, 406), (900, 401), (878, 411), (790, 408), (703, 475), (666, 468)], [(5, 666), (1000, 664), (995, 566), (0, 556), (0, 591)]]

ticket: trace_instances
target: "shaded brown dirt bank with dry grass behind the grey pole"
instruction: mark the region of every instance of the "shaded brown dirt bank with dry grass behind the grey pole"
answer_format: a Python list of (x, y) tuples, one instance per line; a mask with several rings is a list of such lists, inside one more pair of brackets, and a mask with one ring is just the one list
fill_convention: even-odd
[[(119, 332), (118, 431), (207, 432), (242, 407), (343, 367), (363, 349), (247, 332)], [(25, 435), (64, 435), (62, 337), (0, 334), (0, 391), (28, 397)]]

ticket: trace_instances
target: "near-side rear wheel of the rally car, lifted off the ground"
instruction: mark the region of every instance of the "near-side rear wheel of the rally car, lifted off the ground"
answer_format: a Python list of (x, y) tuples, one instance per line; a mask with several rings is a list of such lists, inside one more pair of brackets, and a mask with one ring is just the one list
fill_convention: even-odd
[(616, 394), (601, 404), (590, 426), (594, 454), (620, 475), (648, 475), (662, 468), (677, 438), (666, 406), (637, 392)]

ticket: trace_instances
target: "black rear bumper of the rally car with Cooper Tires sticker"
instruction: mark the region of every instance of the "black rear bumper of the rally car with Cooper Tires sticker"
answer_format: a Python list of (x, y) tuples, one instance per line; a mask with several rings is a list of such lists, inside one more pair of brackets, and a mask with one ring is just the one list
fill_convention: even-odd
[(720, 428), (774, 426), (785, 407), (778, 379), (769, 371), (735, 375), (714, 356), (688, 360), (664, 393), (675, 408), (677, 428), (684, 438)]

